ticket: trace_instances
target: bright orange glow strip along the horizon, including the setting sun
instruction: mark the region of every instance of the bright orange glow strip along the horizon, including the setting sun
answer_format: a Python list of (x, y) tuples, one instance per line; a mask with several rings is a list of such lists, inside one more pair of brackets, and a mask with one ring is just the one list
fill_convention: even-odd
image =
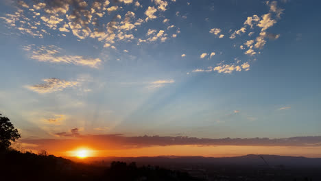
[[(63, 149), (63, 148), (62, 148)], [(56, 156), (77, 158), (88, 157), (140, 157), (140, 156), (204, 156), (204, 157), (232, 157), (247, 154), (271, 154), (281, 156), (305, 156), (308, 158), (321, 157), (321, 147), (281, 147), (281, 146), (199, 146), (199, 145), (171, 145), (151, 146), (128, 149), (99, 150), (94, 147), (77, 147), (72, 151), (50, 152)]]

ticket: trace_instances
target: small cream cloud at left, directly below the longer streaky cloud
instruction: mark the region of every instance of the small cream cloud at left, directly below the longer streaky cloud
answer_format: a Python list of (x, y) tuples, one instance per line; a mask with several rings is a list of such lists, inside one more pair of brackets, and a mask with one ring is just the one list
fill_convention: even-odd
[(77, 86), (79, 84), (77, 81), (60, 80), (58, 78), (49, 78), (43, 81), (45, 82), (43, 84), (36, 84), (26, 87), (36, 93), (53, 93), (56, 91), (61, 91), (64, 88)]

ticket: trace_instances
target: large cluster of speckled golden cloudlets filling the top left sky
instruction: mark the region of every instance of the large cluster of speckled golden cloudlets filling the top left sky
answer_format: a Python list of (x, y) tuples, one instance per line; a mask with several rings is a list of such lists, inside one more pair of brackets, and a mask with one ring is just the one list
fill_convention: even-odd
[[(83, 0), (52, 0), (52, 1), (21, 1), (26, 2), (29, 8), (32, 10), (20, 10), (15, 14), (9, 14), (5, 17), (0, 17), (5, 22), (7, 27), (18, 29), (21, 34), (30, 34), (32, 36), (38, 36), (43, 38), (44, 35), (54, 35), (52, 30), (60, 32), (71, 32), (78, 40), (85, 38), (95, 38), (99, 42), (102, 41), (104, 47), (115, 47), (115, 44), (120, 41), (132, 42), (137, 40), (137, 44), (141, 42), (153, 42), (160, 40), (164, 42), (169, 38), (176, 38), (179, 34), (171, 33), (170, 36), (166, 30), (160, 30), (153, 34), (153, 37), (147, 37), (143, 40), (143, 37), (134, 37), (134, 32), (139, 31), (139, 26), (147, 22), (149, 19), (156, 19), (156, 12), (164, 12), (168, 8), (168, 1), (164, 0), (153, 0), (154, 6), (151, 5), (145, 10), (145, 14), (139, 14), (140, 18), (136, 18), (136, 14), (132, 11), (126, 12), (121, 16), (115, 11), (123, 12), (124, 8), (119, 6), (119, 3), (130, 4), (134, 3), (133, 6), (141, 6), (140, 1), (132, 0), (117, 0), (112, 1), (83, 1)], [(135, 3), (136, 2), (136, 3)], [(21, 3), (23, 4), (23, 3)], [(21, 7), (21, 5), (20, 5)], [(136, 10), (136, 8), (134, 8)], [(112, 16), (112, 19), (107, 23), (104, 15)], [(28, 15), (28, 18), (27, 16)], [(33, 19), (29, 17), (32, 15)], [(145, 18), (147, 16), (147, 18)], [(123, 18), (123, 19), (122, 19)], [(21, 25), (19, 22), (25, 24)], [(164, 23), (169, 20), (165, 19)], [(169, 29), (174, 26), (167, 26)], [(50, 31), (48, 31), (50, 29)], [(20, 35), (20, 34), (19, 34)], [(139, 35), (138, 35), (139, 36)]]

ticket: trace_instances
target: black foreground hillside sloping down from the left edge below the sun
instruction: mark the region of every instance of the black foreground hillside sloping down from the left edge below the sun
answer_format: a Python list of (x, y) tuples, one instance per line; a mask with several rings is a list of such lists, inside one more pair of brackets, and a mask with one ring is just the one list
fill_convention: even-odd
[(53, 155), (1, 152), (0, 180), (200, 180), (182, 171), (112, 162), (110, 167), (89, 165)]

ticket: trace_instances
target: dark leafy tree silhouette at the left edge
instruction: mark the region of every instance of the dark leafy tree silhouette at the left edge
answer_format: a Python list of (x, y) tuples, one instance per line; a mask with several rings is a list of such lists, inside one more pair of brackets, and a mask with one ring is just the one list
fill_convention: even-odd
[(1, 117), (0, 114), (0, 150), (8, 149), (11, 145), (11, 141), (21, 138), (17, 129), (10, 122), (8, 117)]

